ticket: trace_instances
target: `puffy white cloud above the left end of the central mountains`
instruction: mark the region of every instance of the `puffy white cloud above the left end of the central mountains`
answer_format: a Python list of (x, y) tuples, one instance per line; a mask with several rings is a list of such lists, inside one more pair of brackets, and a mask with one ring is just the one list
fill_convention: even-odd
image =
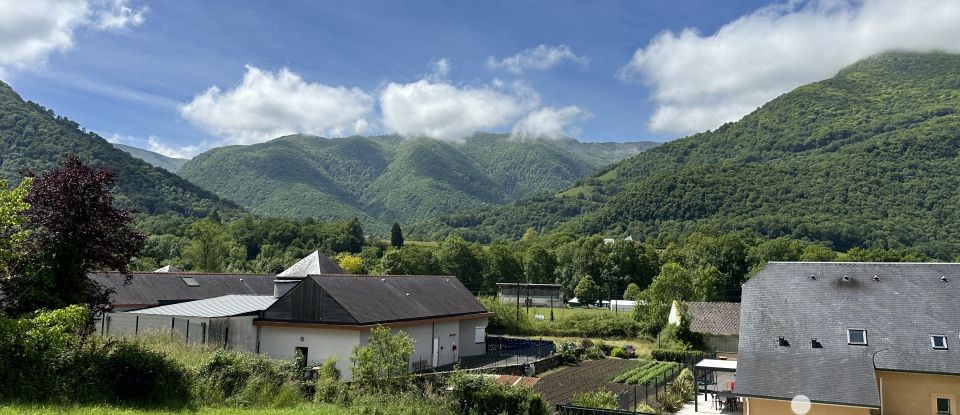
[(180, 114), (226, 144), (254, 144), (294, 133), (362, 134), (372, 109), (373, 98), (358, 88), (309, 83), (287, 68), (272, 73), (247, 66), (240, 85), (210, 87)]

